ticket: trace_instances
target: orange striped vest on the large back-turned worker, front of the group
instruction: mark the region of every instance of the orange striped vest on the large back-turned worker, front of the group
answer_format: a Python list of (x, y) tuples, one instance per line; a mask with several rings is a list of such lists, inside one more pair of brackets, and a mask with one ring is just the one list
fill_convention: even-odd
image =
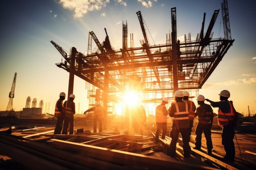
[(187, 126), (186, 128), (189, 128), (189, 109), (188, 109), (188, 104), (186, 104), (186, 111), (180, 112), (179, 106), (177, 103), (174, 103), (174, 106), (176, 108), (176, 112), (173, 115), (173, 121), (177, 121), (177, 124), (184, 124)]

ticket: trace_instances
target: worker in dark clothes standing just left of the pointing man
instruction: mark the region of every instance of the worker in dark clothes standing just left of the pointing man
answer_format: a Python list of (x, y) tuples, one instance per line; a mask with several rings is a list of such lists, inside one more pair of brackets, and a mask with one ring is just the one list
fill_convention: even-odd
[(206, 145), (207, 145), (207, 154), (211, 154), (211, 150), (213, 148), (212, 141), (211, 141), (211, 126), (213, 123), (213, 110), (209, 104), (205, 104), (204, 96), (198, 95), (197, 97), (198, 108), (196, 108), (195, 116), (198, 116), (198, 125), (195, 129), (195, 147), (194, 149), (201, 150), (201, 139), (202, 139), (202, 132), (204, 132), (204, 136), (206, 138)]

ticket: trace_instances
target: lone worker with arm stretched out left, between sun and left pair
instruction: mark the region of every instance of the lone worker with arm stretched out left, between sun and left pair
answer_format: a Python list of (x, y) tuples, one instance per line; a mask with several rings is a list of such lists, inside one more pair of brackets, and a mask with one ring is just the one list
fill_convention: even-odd
[(83, 114), (93, 111), (93, 132), (97, 132), (97, 123), (99, 122), (99, 132), (102, 132), (102, 119), (107, 116), (107, 110), (101, 106), (99, 102), (95, 102), (95, 106), (86, 110)]

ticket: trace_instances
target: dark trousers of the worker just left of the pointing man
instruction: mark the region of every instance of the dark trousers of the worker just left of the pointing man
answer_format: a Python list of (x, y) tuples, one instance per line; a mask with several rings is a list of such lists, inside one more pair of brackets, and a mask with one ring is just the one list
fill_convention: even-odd
[(204, 136), (206, 138), (206, 145), (207, 149), (211, 150), (213, 148), (212, 141), (211, 141), (211, 124), (200, 124), (196, 126), (195, 129), (195, 146), (201, 148), (201, 140), (202, 140), (202, 133), (204, 132)]

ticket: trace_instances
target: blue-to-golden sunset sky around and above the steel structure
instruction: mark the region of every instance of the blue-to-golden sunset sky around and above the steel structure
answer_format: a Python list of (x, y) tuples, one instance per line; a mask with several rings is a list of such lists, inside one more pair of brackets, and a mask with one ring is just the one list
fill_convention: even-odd
[[(122, 48), (122, 21), (133, 33), (134, 46), (144, 39), (137, 11), (146, 22), (155, 44), (166, 43), (171, 30), (171, 8), (176, 7), (177, 39), (191, 33), (195, 40), (200, 32), (203, 14), (205, 30), (214, 10), (220, 9), (213, 27), (213, 38), (224, 37), (221, 20), (222, 0), (1, 0), (0, 5), (0, 110), (6, 110), (14, 73), (17, 73), (13, 108), (25, 107), (27, 96), (50, 102), (50, 113), (60, 92), (68, 90), (69, 73), (55, 64), (61, 54), (50, 43), (66, 51), (74, 46), (87, 53), (88, 32), (94, 31), (100, 42), (107, 29), (115, 49)], [(236, 110), (256, 113), (256, 1), (229, 0), (231, 38), (235, 39), (220, 64), (199, 93), (218, 101), (220, 91), (231, 93)], [(151, 45), (154, 44), (149, 38)], [(92, 43), (92, 50), (96, 44)], [(128, 46), (130, 38), (128, 36)], [(74, 94), (80, 112), (88, 108), (85, 81), (75, 76)], [(78, 107), (76, 107), (78, 108)], [(43, 109), (44, 111), (45, 109)], [(216, 109), (215, 109), (216, 111)], [(217, 111), (216, 111), (217, 112)]]

